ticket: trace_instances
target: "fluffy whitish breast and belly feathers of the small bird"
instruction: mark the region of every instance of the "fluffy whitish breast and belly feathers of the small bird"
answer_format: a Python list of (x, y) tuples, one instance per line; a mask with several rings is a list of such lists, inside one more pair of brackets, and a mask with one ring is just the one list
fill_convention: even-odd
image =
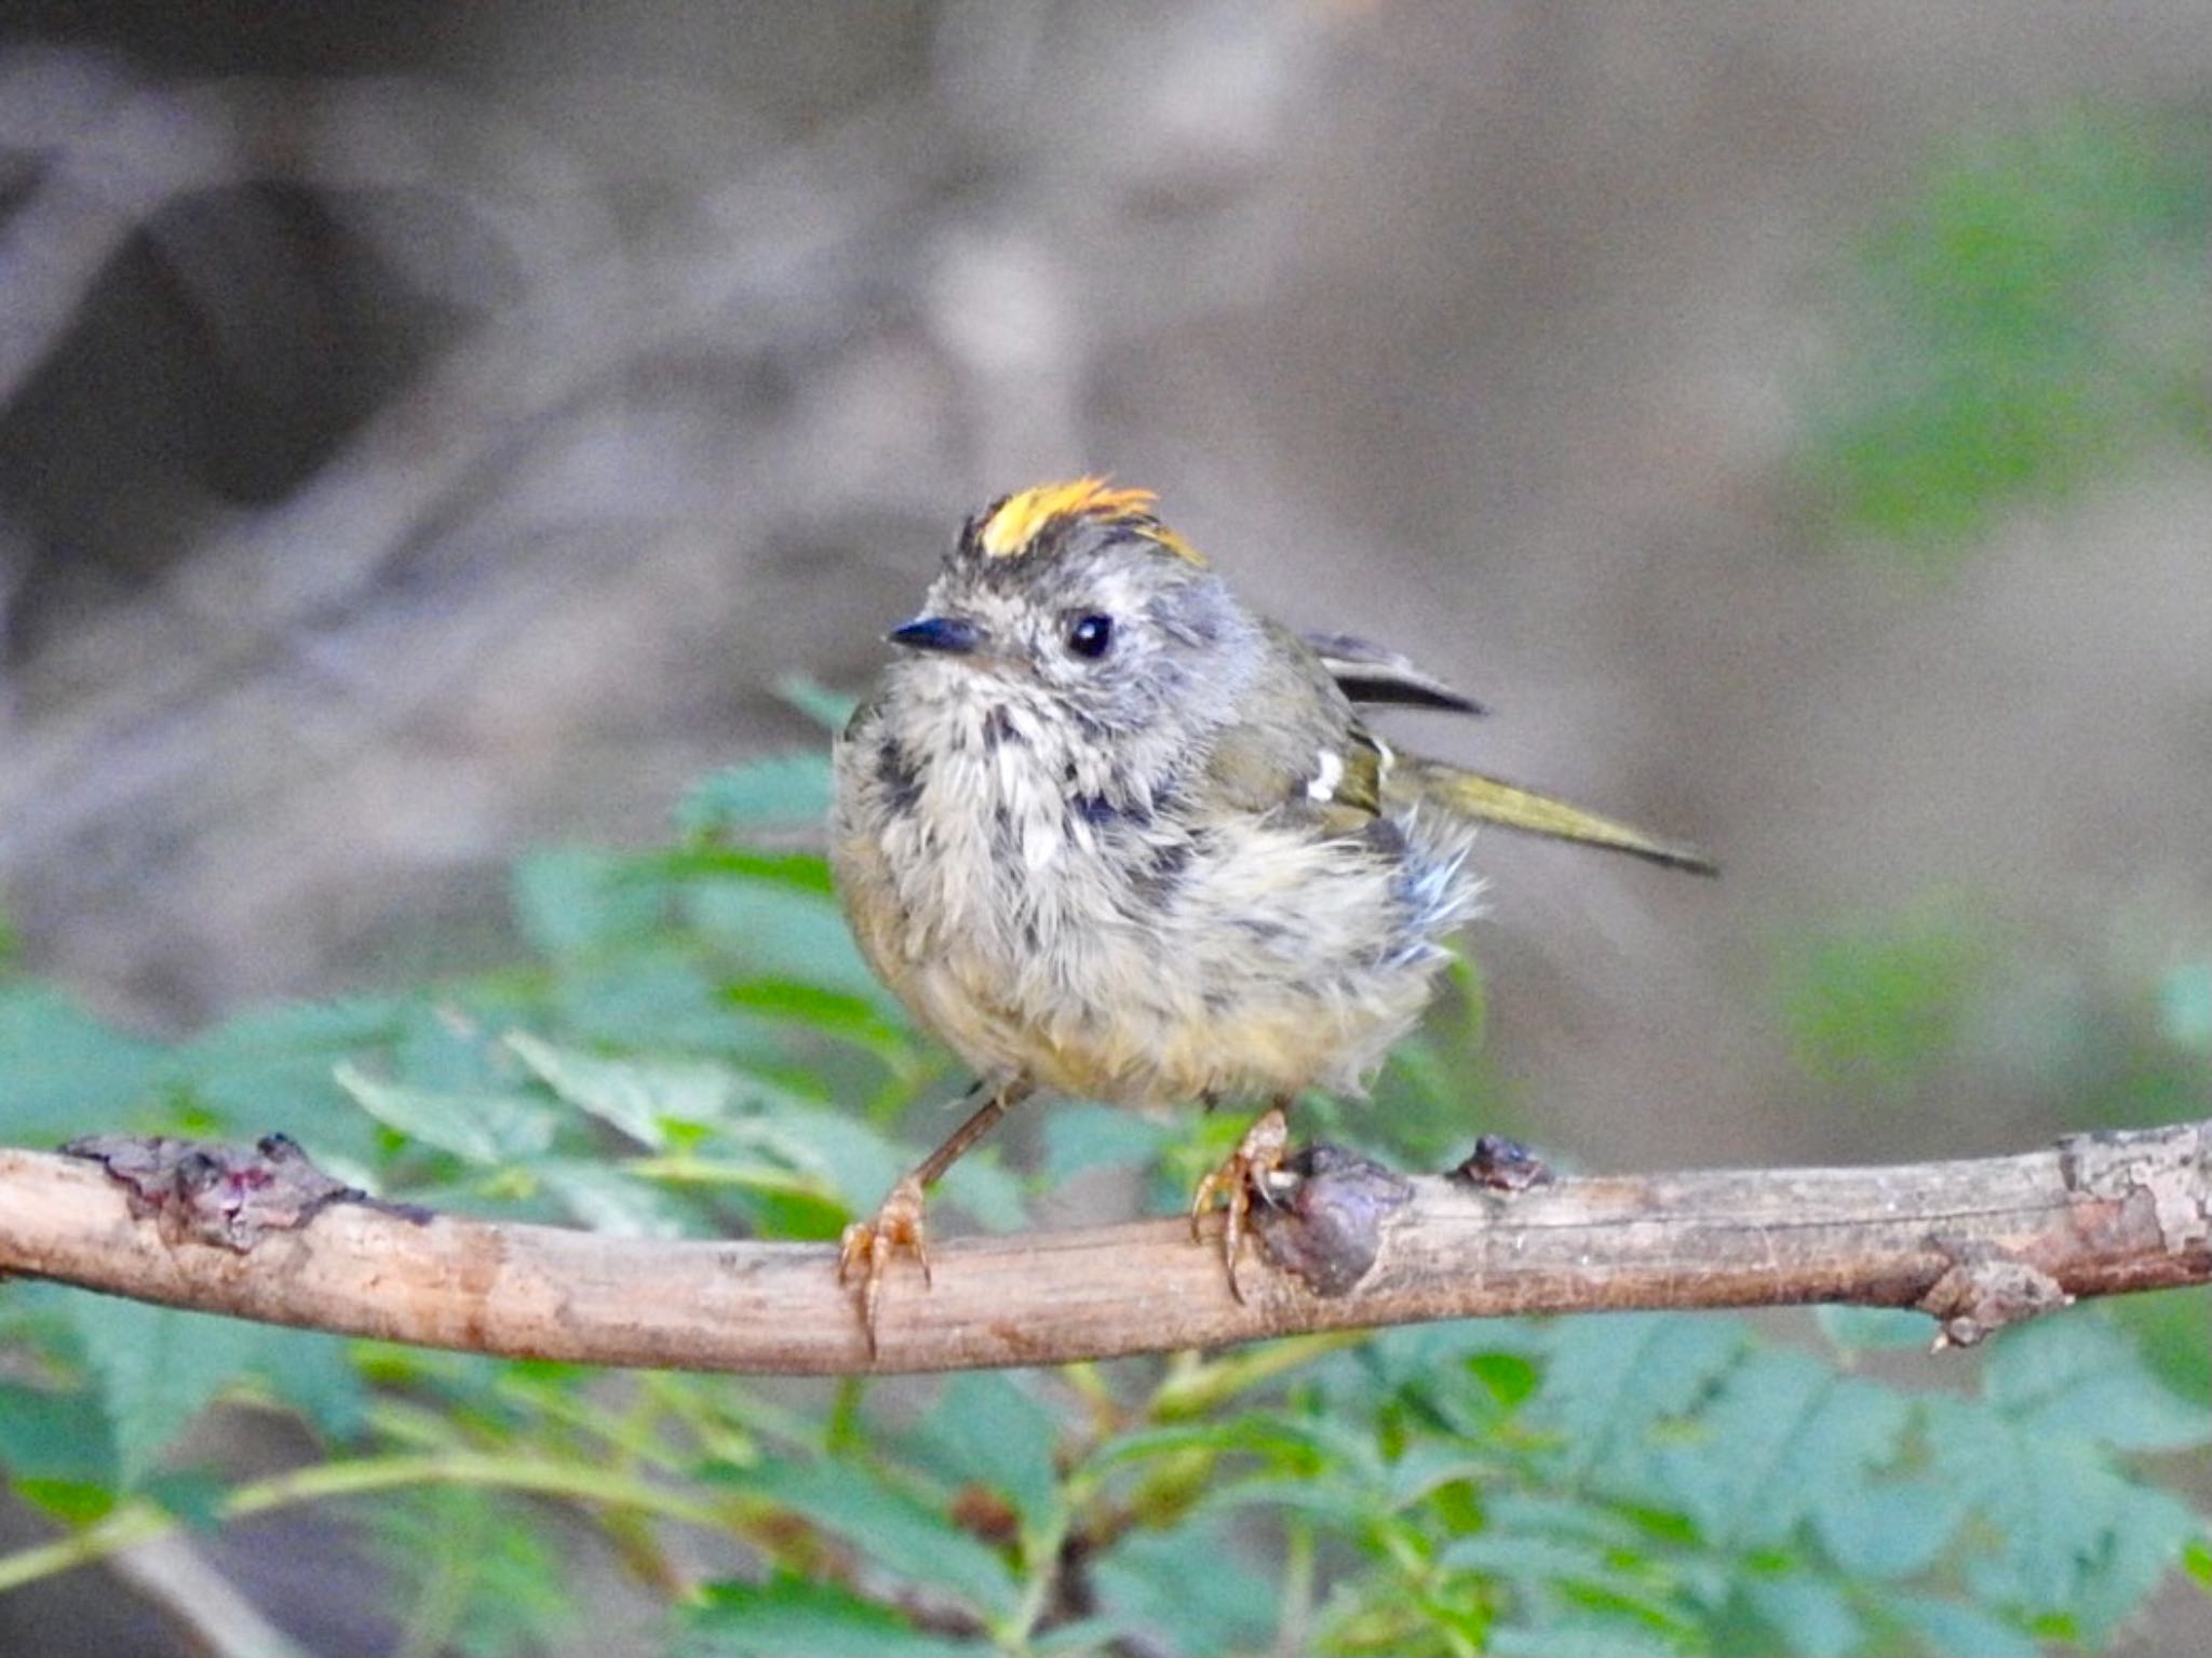
[[(1128, 1103), (1356, 1090), (1427, 1004), (1455, 853), (1106, 807), (971, 756), (902, 811), (856, 796), (834, 860), (876, 970), (978, 1072)], [(1425, 886), (1451, 913), (1416, 913)]]

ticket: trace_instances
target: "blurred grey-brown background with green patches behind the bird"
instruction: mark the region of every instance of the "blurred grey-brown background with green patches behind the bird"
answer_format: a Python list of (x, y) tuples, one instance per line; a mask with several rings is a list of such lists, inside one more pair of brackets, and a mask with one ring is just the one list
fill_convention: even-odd
[(1108, 471), (1493, 710), (1394, 741), (1723, 862), (1489, 838), (1469, 1134), (2203, 1114), (2208, 192), (2201, 0), (18, 0), (20, 957), (148, 1032), (500, 962), (518, 851)]

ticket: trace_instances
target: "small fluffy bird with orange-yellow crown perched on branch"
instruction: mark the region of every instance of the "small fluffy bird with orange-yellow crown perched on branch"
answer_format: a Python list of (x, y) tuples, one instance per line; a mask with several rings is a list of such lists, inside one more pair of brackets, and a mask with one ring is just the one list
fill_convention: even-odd
[(1239, 1249), (1307, 1088), (1363, 1092), (1475, 917), (1480, 825), (1714, 873), (1683, 842), (1400, 752), (1371, 707), (1482, 712), (1400, 652), (1250, 610), (1086, 475), (971, 515), (834, 743), (830, 864), (869, 966), (980, 1108), (838, 1242), (869, 1349), (929, 1282), (927, 1189), (1037, 1090), (1265, 1101), (1190, 1207)]

